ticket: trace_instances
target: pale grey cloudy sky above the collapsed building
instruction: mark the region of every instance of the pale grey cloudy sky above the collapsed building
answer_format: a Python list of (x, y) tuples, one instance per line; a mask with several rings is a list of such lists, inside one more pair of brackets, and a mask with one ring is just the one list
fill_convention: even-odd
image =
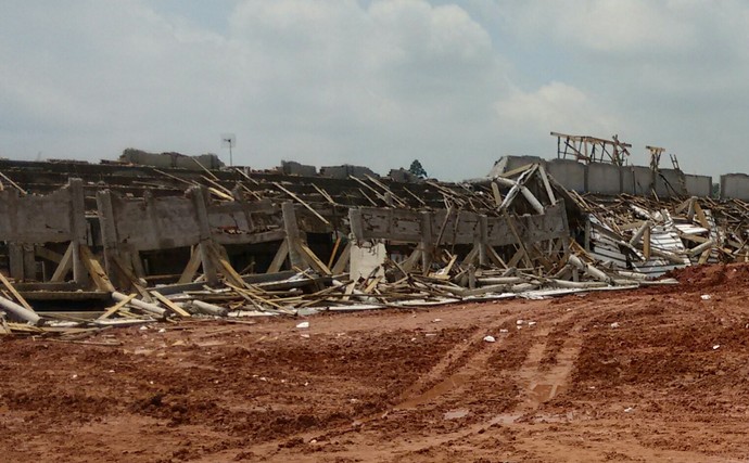
[[(234, 164), (415, 158), (443, 180), (549, 131), (749, 172), (749, 2), (3, 0), (0, 156), (126, 147)], [(665, 157), (668, 164), (668, 156)], [(714, 179), (716, 180), (716, 178)]]

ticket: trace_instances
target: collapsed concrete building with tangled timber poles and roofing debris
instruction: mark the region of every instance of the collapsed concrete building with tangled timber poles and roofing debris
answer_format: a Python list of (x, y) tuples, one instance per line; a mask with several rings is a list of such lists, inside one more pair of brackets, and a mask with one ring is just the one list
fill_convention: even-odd
[[(612, 146), (610, 167), (626, 168), (630, 145)], [(161, 167), (0, 160), (0, 306), (30, 322), (3, 319), (5, 332), (62, 330), (61, 319), (91, 330), (198, 313), (543, 297), (668, 284), (650, 276), (749, 259), (740, 200), (675, 189), (668, 200), (592, 194), (555, 179), (543, 160), (512, 167), (524, 159), (508, 157), (491, 177), (446, 183), (168, 156)], [(61, 314), (80, 303), (96, 317)]]

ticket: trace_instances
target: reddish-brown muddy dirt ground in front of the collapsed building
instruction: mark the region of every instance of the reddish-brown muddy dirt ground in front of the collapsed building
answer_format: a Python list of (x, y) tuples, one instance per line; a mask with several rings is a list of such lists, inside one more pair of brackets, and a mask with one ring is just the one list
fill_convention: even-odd
[(109, 330), (91, 344), (5, 337), (0, 455), (749, 461), (749, 267), (675, 276), (636, 292), (318, 314), (309, 329), (255, 319)]

